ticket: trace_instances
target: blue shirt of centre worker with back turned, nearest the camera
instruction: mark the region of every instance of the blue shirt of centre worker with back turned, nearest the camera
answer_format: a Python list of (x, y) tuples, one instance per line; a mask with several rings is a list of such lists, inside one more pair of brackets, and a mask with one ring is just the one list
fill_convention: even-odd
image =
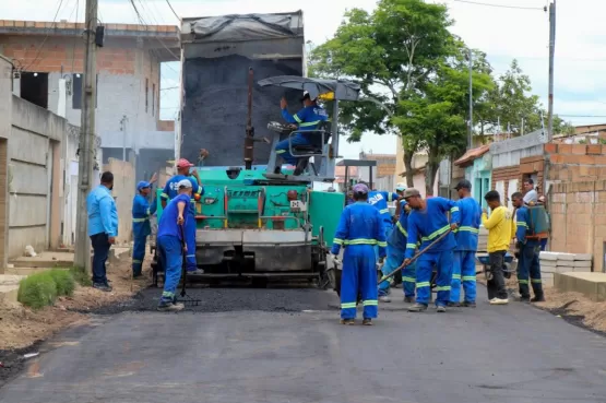
[(331, 253), (338, 254), (342, 245), (378, 245), (379, 257), (385, 257), (388, 242), (384, 222), (377, 209), (364, 201), (355, 202), (343, 210)]

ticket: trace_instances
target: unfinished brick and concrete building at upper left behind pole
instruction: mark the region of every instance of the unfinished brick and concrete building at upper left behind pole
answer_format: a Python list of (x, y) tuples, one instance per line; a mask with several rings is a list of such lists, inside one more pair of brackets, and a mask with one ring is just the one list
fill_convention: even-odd
[[(80, 126), (84, 24), (0, 21), (0, 54), (13, 60), (13, 93)], [(174, 122), (159, 120), (161, 63), (178, 60), (176, 26), (105, 24), (97, 49), (97, 134), (103, 163), (129, 162), (136, 171), (174, 156)]]

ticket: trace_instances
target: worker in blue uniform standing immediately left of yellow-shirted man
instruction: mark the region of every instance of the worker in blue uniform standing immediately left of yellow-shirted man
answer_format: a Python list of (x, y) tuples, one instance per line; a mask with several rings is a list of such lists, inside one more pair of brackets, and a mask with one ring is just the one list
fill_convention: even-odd
[(461, 214), (461, 226), (454, 234), (456, 248), (454, 248), (454, 264), (452, 266), (452, 283), (450, 291), (451, 307), (461, 306), (461, 283), (465, 291), (464, 307), (476, 307), (476, 251), (477, 237), (479, 235), (479, 223), (482, 208), (472, 198), (472, 183), (463, 179), (454, 188), (459, 193), (459, 213)]

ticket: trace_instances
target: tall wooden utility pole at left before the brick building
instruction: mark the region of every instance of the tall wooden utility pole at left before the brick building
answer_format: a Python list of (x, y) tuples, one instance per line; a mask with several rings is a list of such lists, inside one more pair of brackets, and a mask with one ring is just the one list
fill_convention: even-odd
[(86, 0), (86, 20), (84, 37), (84, 85), (82, 86), (82, 120), (80, 125), (80, 159), (78, 171), (78, 216), (74, 265), (91, 270), (91, 241), (88, 239), (88, 214), (86, 195), (93, 185), (93, 166), (95, 164), (95, 107), (97, 93), (97, 0)]

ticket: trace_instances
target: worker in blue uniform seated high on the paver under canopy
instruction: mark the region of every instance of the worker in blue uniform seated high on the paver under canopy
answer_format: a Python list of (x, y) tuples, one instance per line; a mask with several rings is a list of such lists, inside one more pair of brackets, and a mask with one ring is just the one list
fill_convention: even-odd
[[(289, 146), (293, 147), (296, 145), (319, 145), (324, 146), (324, 144), (319, 144), (321, 142), (321, 135), (318, 132), (314, 133), (307, 133), (306, 131), (311, 130), (319, 130), (319, 126), (321, 122), (329, 120), (329, 115), (326, 110), (318, 105), (318, 98), (311, 99), (311, 96), (307, 91), (304, 92), (304, 96), (301, 98), (304, 104), (304, 108), (299, 110), (295, 115), (290, 115), (288, 112), (288, 104), (286, 103), (286, 98), (282, 98), (280, 100), (280, 107), (282, 109), (282, 117), (288, 123), (297, 125), (298, 131), (297, 133), (289, 138), (282, 140), (275, 146), (275, 152), (277, 156), (282, 157), (286, 164), (296, 165), (295, 175), (301, 175), (305, 168), (307, 167), (308, 158), (297, 158), (290, 154)], [(275, 174), (280, 174), (281, 168), (280, 165), (275, 168)]]

